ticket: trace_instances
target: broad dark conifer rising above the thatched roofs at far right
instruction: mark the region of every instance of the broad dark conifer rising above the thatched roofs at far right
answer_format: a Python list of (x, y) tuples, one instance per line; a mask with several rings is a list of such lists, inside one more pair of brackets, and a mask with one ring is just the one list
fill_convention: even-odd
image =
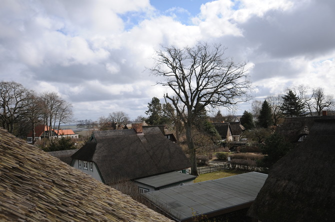
[(282, 99), (281, 110), (285, 116), (305, 116), (305, 104), (302, 102), (302, 99), (292, 92), (292, 90), (289, 90)]

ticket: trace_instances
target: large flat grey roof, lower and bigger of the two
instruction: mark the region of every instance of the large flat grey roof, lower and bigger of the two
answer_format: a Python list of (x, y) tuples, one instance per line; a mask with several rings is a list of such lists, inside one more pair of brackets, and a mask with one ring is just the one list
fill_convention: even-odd
[(241, 205), (248, 207), (266, 178), (266, 174), (251, 172), (143, 195), (177, 221), (184, 221), (196, 215), (228, 213), (228, 209)]

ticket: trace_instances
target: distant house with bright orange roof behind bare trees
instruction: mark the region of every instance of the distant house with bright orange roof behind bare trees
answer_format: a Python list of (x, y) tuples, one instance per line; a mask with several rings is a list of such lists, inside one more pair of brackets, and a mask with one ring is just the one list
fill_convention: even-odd
[[(61, 138), (61, 137), (70, 137), (70, 138), (78, 138), (78, 134), (75, 134), (71, 129), (67, 129), (67, 130), (54, 130), (51, 129), (51, 135), (49, 135), (50, 133), (49, 127), (46, 125), (37, 125), (35, 127), (35, 141), (37, 140), (41, 140), (43, 138)], [(30, 131), (27, 135), (27, 139), (26, 139), (27, 143), (32, 143), (32, 131)]]

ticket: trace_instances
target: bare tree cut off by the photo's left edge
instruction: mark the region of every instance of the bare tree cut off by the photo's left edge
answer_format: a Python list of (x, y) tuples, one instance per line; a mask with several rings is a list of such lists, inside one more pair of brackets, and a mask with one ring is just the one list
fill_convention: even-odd
[(32, 92), (20, 83), (0, 82), (0, 124), (9, 133), (13, 133), (14, 123), (27, 112), (27, 100), (31, 95)]

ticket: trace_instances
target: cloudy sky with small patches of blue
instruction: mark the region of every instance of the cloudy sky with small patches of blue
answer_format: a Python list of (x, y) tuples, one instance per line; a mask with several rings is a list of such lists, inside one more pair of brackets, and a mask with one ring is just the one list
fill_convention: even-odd
[[(247, 61), (253, 99), (294, 85), (335, 89), (334, 0), (0, 0), (0, 81), (57, 92), (76, 120), (163, 102), (161, 45), (220, 43)], [(223, 115), (231, 111), (218, 107)], [(250, 102), (233, 114), (250, 111)]]

